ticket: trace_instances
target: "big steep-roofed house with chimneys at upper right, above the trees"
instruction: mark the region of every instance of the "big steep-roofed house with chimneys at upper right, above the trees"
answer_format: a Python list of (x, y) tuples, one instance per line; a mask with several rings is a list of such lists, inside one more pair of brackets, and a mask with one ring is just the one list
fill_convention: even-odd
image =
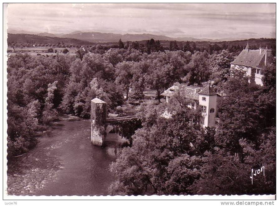
[[(256, 84), (262, 84), (262, 70), (265, 66), (272, 61), (272, 51), (267, 47), (260, 47), (259, 49), (252, 50), (249, 44), (242, 52), (230, 63), (231, 69), (242, 68), (250, 77), (249, 81), (255, 81)], [(232, 75), (232, 74), (231, 74)]]

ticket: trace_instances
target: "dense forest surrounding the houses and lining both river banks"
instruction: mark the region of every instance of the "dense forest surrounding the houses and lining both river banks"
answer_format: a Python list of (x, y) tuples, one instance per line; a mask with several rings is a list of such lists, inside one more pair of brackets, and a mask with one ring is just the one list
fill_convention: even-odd
[[(89, 118), (95, 97), (119, 113), (125, 102), (142, 102), (143, 91), (154, 89), (156, 99), (143, 101), (137, 114), (143, 128), (111, 165), (117, 178), (111, 195), (275, 194), (275, 61), (263, 69), (261, 87), (248, 83), (242, 71), (230, 77), (229, 63), (241, 51), (237, 46), (197, 48), (172, 41), (164, 48), (151, 39), (144, 45), (120, 40), (116, 47), (106, 52), (101, 44), (91, 45), (90, 54), (80, 49), (77, 56), (9, 57), (8, 158), (34, 146), (34, 132), (59, 113)], [(181, 94), (173, 118), (157, 114), (165, 107), (164, 88), (209, 81), (222, 96), (217, 129), (204, 132), (189, 124), (201, 112), (189, 109)], [(266, 175), (251, 185), (251, 169), (262, 166)]]

